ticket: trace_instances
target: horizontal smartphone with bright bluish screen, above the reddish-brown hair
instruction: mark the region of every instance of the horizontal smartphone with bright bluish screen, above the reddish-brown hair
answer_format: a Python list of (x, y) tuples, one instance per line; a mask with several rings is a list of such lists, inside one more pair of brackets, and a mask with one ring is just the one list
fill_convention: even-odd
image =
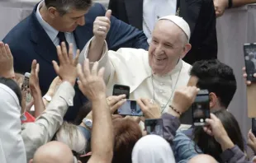
[(135, 100), (126, 100), (125, 104), (117, 109), (117, 114), (130, 116), (143, 116), (140, 106)]

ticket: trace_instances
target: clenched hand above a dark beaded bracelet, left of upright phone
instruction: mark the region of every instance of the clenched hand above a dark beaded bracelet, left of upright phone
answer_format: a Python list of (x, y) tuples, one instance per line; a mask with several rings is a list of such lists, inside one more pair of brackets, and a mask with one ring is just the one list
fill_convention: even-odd
[[(180, 113), (184, 113), (196, 99), (199, 89), (196, 86), (184, 86), (177, 89), (173, 95), (172, 106)], [(170, 108), (168, 112), (173, 112)]]

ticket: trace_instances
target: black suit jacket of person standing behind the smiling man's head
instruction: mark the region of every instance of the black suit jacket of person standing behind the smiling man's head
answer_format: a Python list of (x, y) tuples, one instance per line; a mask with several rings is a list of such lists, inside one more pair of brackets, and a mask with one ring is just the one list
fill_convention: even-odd
[[(177, 0), (182, 16), (191, 29), (192, 49), (184, 60), (217, 58), (216, 13), (212, 0)], [(110, 0), (109, 9), (116, 18), (143, 30), (143, 0)]]

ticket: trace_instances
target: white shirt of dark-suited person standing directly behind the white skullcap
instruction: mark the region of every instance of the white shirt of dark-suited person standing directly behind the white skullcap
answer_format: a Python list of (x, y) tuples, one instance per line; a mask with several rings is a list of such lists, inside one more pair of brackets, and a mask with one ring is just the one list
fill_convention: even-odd
[(177, 0), (143, 0), (143, 31), (151, 42), (151, 33), (160, 17), (175, 15)]

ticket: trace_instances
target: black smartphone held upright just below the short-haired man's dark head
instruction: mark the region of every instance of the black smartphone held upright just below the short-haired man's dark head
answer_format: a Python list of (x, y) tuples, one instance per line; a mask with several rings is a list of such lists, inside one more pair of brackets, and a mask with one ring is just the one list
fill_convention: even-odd
[(201, 90), (197, 93), (196, 100), (192, 104), (192, 121), (194, 126), (206, 125), (206, 119), (210, 119), (209, 91)]

